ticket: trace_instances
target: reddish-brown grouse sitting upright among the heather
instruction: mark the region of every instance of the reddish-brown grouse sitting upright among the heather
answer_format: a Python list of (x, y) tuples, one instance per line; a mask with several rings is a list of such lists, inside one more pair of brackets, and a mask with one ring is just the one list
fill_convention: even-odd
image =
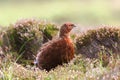
[(62, 63), (68, 63), (74, 58), (74, 46), (69, 32), (75, 27), (72, 23), (61, 26), (59, 38), (45, 43), (36, 57), (36, 65), (47, 71)]

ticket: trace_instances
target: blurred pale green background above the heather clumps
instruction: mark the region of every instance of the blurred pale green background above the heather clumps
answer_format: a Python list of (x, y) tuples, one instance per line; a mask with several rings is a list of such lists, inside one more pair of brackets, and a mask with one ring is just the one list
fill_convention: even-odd
[(0, 0), (0, 25), (38, 18), (82, 26), (120, 25), (120, 0)]

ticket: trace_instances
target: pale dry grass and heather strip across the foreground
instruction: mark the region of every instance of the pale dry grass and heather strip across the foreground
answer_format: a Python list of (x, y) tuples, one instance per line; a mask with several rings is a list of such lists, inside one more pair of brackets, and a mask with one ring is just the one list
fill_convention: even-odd
[(21, 66), (15, 62), (2, 63), (0, 78), (2, 80), (119, 80), (120, 57), (109, 58), (106, 67), (99, 59), (76, 58), (69, 64), (58, 66), (50, 72), (39, 70), (35, 66)]

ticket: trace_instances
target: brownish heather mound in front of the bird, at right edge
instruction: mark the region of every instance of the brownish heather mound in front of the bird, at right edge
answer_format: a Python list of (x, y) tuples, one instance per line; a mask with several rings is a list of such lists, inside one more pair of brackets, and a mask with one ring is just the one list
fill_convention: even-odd
[[(104, 53), (105, 57), (120, 51), (120, 29), (102, 27), (97, 30), (89, 30), (76, 39), (78, 54), (89, 58), (99, 57)], [(102, 54), (102, 55), (104, 55)]]

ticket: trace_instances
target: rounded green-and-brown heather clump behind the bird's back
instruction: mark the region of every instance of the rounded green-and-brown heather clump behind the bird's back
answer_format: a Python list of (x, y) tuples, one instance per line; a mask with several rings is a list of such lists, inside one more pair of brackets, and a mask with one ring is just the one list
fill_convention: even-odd
[(57, 34), (57, 30), (54, 24), (44, 21), (19, 20), (4, 32), (3, 48), (5, 51), (15, 51), (20, 63), (34, 62), (38, 49), (43, 43), (51, 40)]

